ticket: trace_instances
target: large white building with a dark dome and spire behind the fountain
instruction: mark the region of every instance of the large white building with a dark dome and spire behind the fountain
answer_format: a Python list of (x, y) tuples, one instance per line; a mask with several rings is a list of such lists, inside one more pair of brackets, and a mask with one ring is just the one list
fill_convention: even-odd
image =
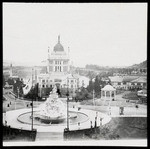
[(70, 70), (70, 57), (68, 52), (60, 43), (60, 36), (58, 36), (58, 43), (50, 51), (48, 48), (47, 72), (37, 75), (37, 82), (39, 83), (40, 96), (45, 94), (46, 88), (51, 88), (54, 85), (57, 88), (69, 88), (75, 91), (84, 86), (87, 87), (89, 79), (84, 76), (73, 75)]

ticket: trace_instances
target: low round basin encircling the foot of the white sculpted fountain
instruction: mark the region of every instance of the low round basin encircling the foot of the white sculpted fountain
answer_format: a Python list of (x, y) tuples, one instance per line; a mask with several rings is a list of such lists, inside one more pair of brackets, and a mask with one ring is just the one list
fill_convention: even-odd
[[(77, 124), (77, 123), (83, 123), (85, 121), (88, 121), (89, 117), (82, 112), (75, 112), (75, 111), (69, 111), (69, 123), (70, 124)], [(31, 111), (30, 112), (24, 112), (20, 115), (18, 115), (17, 120), (23, 124), (32, 124), (32, 117), (31, 117)], [(64, 126), (67, 124), (67, 118), (66, 117), (45, 117), (39, 115), (39, 111), (33, 112), (33, 124), (38, 126), (52, 126), (52, 125), (59, 125)]]

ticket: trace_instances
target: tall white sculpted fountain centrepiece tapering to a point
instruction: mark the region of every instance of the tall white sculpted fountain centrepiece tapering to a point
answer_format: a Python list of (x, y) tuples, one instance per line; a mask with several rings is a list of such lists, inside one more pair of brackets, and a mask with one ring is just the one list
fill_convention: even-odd
[(67, 118), (66, 107), (58, 98), (56, 86), (50, 92), (47, 100), (39, 106), (39, 109), (33, 117), (43, 123), (61, 123)]

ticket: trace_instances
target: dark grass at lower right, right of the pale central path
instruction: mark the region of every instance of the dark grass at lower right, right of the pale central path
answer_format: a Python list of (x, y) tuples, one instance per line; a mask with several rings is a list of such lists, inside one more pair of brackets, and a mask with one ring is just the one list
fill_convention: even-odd
[(95, 130), (70, 133), (69, 140), (147, 139), (146, 117), (115, 117)]

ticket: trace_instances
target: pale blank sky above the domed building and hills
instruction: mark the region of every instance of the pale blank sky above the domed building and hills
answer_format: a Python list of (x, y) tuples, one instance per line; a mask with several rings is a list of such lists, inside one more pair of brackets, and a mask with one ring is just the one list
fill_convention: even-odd
[(147, 3), (3, 3), (3, 61), (46, 65), (58, 35), (76, 67), (147, 59)]

